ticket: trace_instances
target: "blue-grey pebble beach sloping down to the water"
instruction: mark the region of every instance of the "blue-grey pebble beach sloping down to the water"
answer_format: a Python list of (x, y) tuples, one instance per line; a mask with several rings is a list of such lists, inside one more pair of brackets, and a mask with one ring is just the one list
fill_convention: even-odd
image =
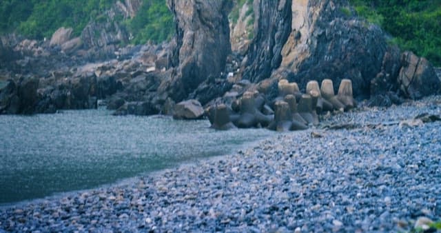
[(441, 122), (397, 123), (423, 112), (441, 114), (441, 97), (323, 121), (351, 130), (278, 134), (130, 184), (3, 207), (0, 231), (411, 230), (441, 218)]

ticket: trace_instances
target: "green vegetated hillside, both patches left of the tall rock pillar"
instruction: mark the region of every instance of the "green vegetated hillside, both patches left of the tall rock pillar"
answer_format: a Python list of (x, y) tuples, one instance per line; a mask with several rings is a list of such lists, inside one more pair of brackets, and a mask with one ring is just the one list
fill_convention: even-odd
[[(81, 34), (92, 20), (99, 21), (117, 0), (2, 0), (0, 34), (18, 32), (30, 39), (50, 38), (58, 28)], [(132, 43), (161, 42), (174, 33), (173, 16), (165, 0), (143, 0), (133, 19), (119, 19), (132, 33)]]

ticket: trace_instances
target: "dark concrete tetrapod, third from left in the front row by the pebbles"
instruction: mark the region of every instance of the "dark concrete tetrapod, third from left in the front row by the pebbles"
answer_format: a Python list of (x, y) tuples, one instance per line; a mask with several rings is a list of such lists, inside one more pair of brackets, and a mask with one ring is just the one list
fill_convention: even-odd
[(268, 129), (276, 130), (278, 132), (287, 132), (289, 130), (306, 130), (307, 126), (298, 123), (298, 121), (292, 121), (291, 110), (289, 105), (285, 101), (276, 101), (274, 104), (275, 114), (274, 121), (272, 121)]

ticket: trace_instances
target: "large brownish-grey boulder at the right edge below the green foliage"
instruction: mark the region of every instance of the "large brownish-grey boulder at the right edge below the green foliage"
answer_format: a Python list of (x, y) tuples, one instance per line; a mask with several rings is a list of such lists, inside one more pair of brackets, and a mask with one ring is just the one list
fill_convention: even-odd
[(441, 91), (441, 81), (431, 63), (412, 52), (404, 52), (401, 57), (402, 68), (398, 76), (400, 91), (405, 97), (420, 99)]

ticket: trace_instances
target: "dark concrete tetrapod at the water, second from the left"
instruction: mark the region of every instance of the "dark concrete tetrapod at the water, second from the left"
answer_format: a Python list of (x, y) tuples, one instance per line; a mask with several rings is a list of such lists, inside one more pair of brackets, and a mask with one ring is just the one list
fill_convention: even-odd
[(233, 123), (238, 128), (252, 128), (258, 125), (266, 127), (271, 122), (271, 116), (265, 116), (256, 108), (253, 92), (245, 92), (240, 99), (240, 116)]

